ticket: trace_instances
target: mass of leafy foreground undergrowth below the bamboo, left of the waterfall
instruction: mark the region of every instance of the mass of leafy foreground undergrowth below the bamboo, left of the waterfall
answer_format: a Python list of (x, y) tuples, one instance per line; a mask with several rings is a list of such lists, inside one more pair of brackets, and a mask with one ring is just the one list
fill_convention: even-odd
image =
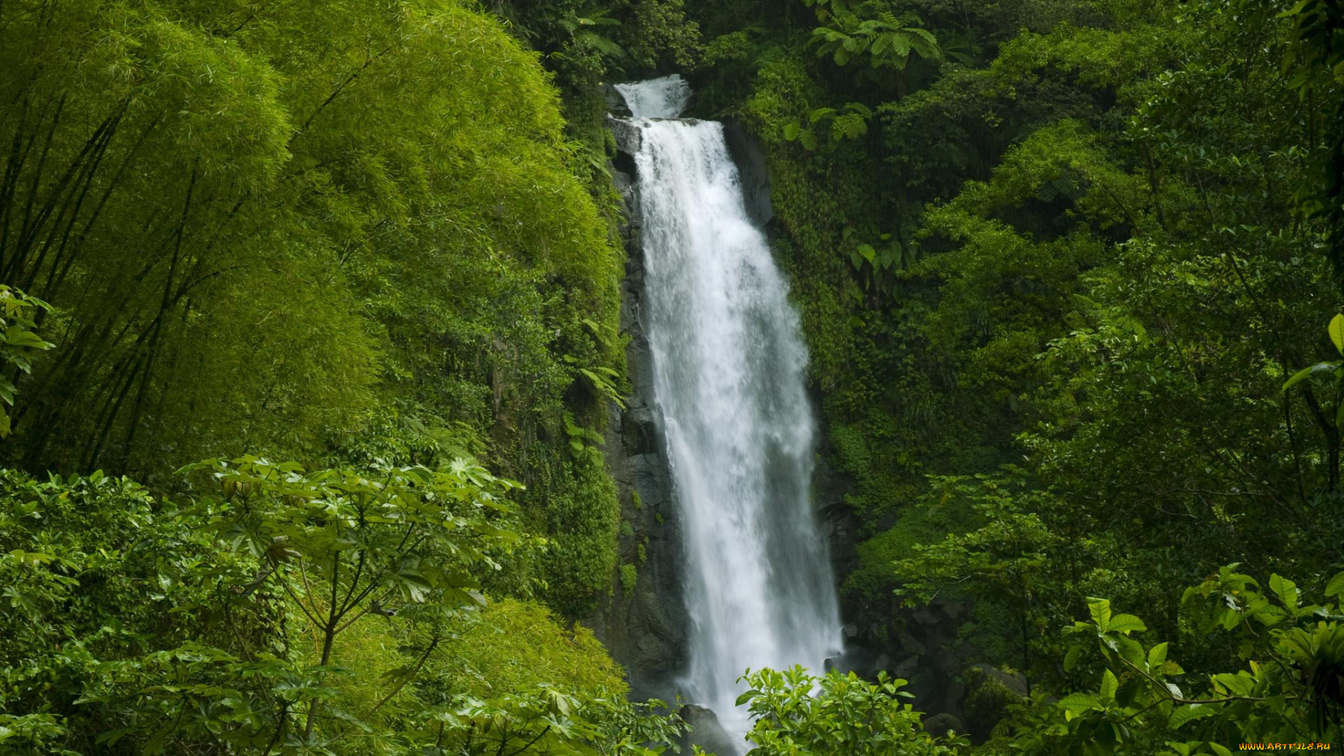
[(195, 469), (220, 499), (0, 474), (7, 753), (648, 756), (676, 736), (591, 634), (474, 591), (526, 545), (512, 486), (474, 463)]

